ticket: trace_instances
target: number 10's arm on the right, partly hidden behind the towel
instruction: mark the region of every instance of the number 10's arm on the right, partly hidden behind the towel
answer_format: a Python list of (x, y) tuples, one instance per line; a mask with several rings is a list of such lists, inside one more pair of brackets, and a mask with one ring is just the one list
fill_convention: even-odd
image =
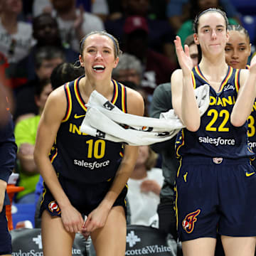
[[(127, 88), (127, 112), (139, 116), (143, 116), (144, 114), (144, 100), (142, 95), (130, 88)], [(92, 232), (96, 228), (101, 228), (105, 225), (107, 215), (110, 213), (114, 201), (116, 201), (119, 193), (121, 193), (128, 178), (132, 174), (137, 161), (137, 156), (138, 146), (125, 146), (124, 157), (119, 165), (117, 174), (114, 176), (110, 190), (107, 192), (100, 205), (88, 215), (85, 222), (85, 230), (87, 232)]]

